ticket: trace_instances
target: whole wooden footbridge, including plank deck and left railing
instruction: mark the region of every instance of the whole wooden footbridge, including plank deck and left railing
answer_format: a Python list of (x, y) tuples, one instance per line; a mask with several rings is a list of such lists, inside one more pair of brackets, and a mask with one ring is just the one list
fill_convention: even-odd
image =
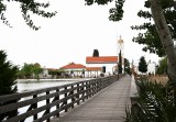
[[(118, 120), (120, 122), (130, 99), (131, 78), (122, 78), (123, 76), (96, 78), (29, 92), (0, 96), (0, 117), (6, 117), (0, 121), (113, 122), (114, 120), (117, 122)], [(84, 103), (84, 101), (88, 102)], [(23, 108), (25, 111), (19, 113)], [(68, 114), (64, 115), (63, 113)]]

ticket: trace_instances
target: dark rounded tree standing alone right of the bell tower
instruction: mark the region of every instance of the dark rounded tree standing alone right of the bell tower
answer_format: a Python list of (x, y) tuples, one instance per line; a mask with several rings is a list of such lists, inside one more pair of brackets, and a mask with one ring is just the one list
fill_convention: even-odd
[(146, 73), (147, 71), (147, 64), (144, 56), (141, 56), (139, 63), (139, 71)]

